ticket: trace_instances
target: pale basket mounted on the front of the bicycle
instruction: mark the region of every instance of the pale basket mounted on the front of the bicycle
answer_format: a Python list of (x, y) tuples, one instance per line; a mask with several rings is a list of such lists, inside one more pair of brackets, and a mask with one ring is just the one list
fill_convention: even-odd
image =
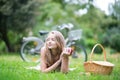
[(69, 40), (78, 40), (78, 39), (81, 39), (81, 37), (82, 37), (82, 30), (81, 29), (72, 30), (68, 34)]

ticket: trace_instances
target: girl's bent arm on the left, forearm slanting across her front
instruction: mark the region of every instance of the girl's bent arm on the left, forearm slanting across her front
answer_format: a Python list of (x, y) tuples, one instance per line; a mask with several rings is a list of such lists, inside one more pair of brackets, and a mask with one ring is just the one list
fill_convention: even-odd
[(55, 70), (58, 65), (61, 63), (61, 59), (59, 59), (58, 61), (56, 61), (52, 66), (47, 68), (47, 64), (45, 63), (46, 58), (45, 58), (45, 50), (44, 48), (41, 49), (41, 71), (48, 73), (51, 72), (53, 70)]

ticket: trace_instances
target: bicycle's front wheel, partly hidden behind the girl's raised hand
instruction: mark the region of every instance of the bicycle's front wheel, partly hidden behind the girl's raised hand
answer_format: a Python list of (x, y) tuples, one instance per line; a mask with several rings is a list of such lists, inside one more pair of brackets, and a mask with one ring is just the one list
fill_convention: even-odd
[(85, 50), (85, 48), (82, 45), (74, 45), (75, 49), (74, 49), (74, 53), (72, 55), (73, 58), (79, 58), (80, 61), (86, 62), (87, 61), (87, 52)]

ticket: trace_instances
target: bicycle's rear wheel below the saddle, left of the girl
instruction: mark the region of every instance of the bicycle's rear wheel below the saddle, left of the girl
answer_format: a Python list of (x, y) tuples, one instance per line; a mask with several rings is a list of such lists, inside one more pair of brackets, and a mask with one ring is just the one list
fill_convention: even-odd
[(21, 58), (26, 62), (40, 62), (40, 49), (42, 46), (42, 41), (26, 41), (21, 47)]

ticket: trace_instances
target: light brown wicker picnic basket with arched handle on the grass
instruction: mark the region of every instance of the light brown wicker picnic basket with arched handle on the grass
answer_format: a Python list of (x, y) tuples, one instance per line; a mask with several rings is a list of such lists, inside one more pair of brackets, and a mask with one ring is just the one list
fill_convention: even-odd
[[(93, 61), (92, 56), (94, 49), (100, 46), (104, 53), (104, 61)], [(92, 74), (110, 74), (113, 70), (114, 64), (106, 61), (106, 51), (101, 44), (96, 44), (90, 54), (90, 61), (84, 62), (84, 69), (86, 72)]]

